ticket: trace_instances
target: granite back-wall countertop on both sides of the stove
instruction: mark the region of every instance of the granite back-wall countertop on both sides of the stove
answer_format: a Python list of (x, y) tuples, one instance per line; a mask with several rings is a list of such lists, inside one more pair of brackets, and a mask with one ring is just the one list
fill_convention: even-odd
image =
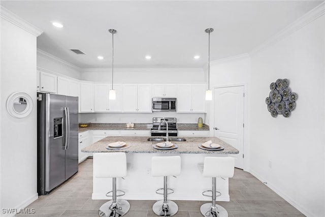
[[(79, 128), (79, 133), (88, 130), (151, 130), (152, 123), (135, 123), (134, 128), (127, 128), (125, 123), (88, 123), (88, 127)], [(208, 125), (198, 128), (196, 123), (178, 123), (177, 130), (209, 131)]]

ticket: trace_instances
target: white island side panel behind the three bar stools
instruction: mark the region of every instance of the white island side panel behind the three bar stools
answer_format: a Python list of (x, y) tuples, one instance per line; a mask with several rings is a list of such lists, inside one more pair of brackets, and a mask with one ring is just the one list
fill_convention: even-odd
[[(168, 178), (168, 187), (175, 193), (168, 197), (171, 200), (201, 200), (210, 201), (211, 198), (202, 195), (203, 191), (212, 190), (212, 178), (203, 177), (198, 164), (203, 165), (204, 158), (209, 156), (228, 157), (228, 154), (190, 154), (190, 153), (126, 153), (128, 170), (125, 179), (117, 178), (117, 189), (125, 191), (126, 200), (162, 200), (162, 195), (155, 191), (164, 187), (163, 177), (152, 177), (151, 158), (153, 156), (180, 156), (181, 174), (176, 178)], [(95, 160), (95, 159), (94, 159)], [(112, 178), (93, 177), (94, 200), (110, 200), (106, 193), (112, 190)], [(221, 196), (217, 201), (229, 201), (228, 178), (217, 178), (217, 191)]]

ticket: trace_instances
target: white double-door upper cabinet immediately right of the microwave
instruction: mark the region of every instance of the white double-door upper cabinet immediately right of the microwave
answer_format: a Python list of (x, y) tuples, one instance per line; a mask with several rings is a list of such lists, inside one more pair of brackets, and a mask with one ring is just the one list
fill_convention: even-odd
[(177, 112), (205, 112), (206, 84), (179, 84), (177, 87)]

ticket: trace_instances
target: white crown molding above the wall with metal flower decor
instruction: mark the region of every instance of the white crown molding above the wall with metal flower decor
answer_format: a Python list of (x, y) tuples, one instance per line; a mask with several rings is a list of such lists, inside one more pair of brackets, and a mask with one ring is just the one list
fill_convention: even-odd
[(311, 11), (307, 12), (305, 15), (294, 21), (293, 23), (286, 26), (282, 29), (279, 33), (275, 34), (271, 37), (268, 41), (264, 42), (263, 44), (257, 46), (253, 50), (249, 52), (249, 55), (254, 55), (262, 50), (266, 49), (267, 47), (271, 46), (272, 44), (286, 38), (287, 36), (293, 34), (300, 28), (306, 26), (307, 24), (311, 23), (312, 21), (316, 20), (317, 18), (323, 16), (325, 14), (325, 2), (318, 5), (316, 8), (312, 9)]

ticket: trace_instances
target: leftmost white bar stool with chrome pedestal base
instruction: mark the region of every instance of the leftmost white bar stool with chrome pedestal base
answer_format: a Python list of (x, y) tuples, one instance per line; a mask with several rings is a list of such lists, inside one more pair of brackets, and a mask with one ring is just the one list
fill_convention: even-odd
[[(99, 210), (102, 217), (119, 217), (124, 215), (130, 204), (126, 200), (116, 200), (116, 197), (125, 195), (125, 192), (116, 190), (116, 178), (126, 176), (126, 154), (124, 152), (103, 152), (93, 154), (93, 176), (96, 178), (113, 178), (113, 190), (106, 194), (112, 197)], [(117, 195), (116, 192), (122, 192)], [(112, 193), (112, 195), (109, 195)]]

